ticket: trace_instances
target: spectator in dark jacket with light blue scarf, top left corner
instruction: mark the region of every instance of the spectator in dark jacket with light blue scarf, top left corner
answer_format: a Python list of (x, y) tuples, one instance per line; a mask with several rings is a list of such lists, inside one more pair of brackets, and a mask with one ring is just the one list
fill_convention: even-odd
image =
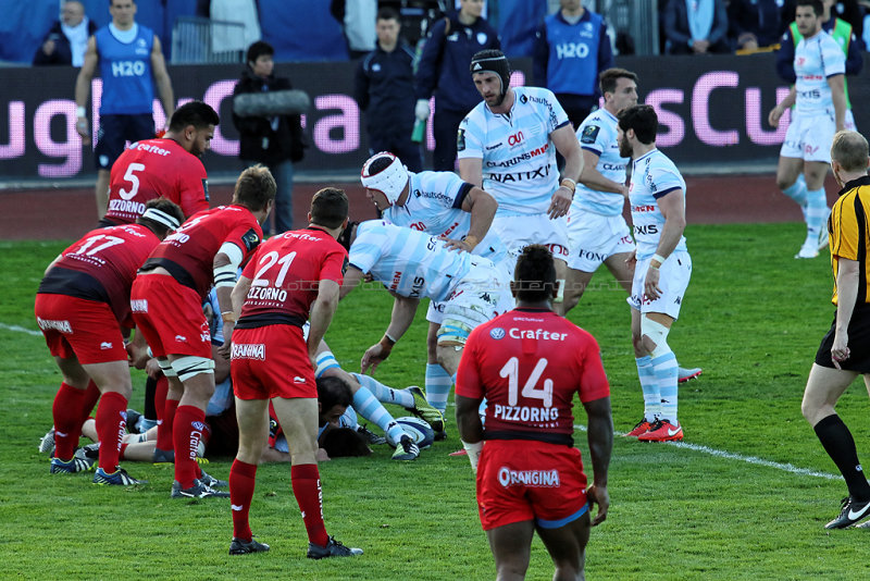
[(88, 38), (97, 25), (85, 16), (85, 7), (77, 0), (67, 0), (61, 9), (61, 20), (46, 34), (34, 54), (34, 65), (72, 64), (82, 66)]

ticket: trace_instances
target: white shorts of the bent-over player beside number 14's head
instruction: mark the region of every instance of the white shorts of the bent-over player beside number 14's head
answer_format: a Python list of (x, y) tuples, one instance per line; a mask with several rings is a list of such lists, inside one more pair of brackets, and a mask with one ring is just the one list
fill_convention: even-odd
[(444, 304), (438, 343), (464, 345), (475, 326), (512, 308), (510, 281), (490, 260), (477, 258)]

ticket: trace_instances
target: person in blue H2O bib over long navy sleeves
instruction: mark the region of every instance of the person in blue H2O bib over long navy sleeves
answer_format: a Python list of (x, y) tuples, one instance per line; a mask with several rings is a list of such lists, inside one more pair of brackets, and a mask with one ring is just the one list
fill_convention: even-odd
[(537, 30), (535, 86), (550, 89), (577, 128), (598, 106), (598, 73), (613, 66), (607, 23), (580, 0), (561, 0)]

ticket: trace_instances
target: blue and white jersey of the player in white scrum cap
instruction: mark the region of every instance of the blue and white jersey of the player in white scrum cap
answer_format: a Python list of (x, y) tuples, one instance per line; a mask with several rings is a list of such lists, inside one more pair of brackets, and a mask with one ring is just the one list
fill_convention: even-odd
[[(452, 239), (462, 239), (471, 227), (471, 213), (462, 210), (472, 186), (453, 172), (408, 172), (410, 186), (405, 206), (395, 203), (382, 218), (397, 226), (406, 226)], [(505, 260), (508, 250), (494, 230), (489, 230), (474, 250), (495, 263)]]

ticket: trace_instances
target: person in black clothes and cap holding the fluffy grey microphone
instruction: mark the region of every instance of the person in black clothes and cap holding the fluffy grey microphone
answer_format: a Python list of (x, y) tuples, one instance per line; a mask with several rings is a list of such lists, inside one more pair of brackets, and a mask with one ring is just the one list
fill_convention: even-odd
[[(263, 40), (248, 47), (246, 62), (233, 96), (245, 92), (289, 90), (290, 79), (275, 76), (275, 49)], [(304, 156), (300, 115), (241, 118), (233, 113), (233, 124), (239, 133), (239, 158), (251, 166), (262, 163), (270, 169), (278, 190), (275, 196), (275, 227), (272, 234), (293, 228), (293, 163)], [(269, 231), (269, 224), (265, 224)]]

